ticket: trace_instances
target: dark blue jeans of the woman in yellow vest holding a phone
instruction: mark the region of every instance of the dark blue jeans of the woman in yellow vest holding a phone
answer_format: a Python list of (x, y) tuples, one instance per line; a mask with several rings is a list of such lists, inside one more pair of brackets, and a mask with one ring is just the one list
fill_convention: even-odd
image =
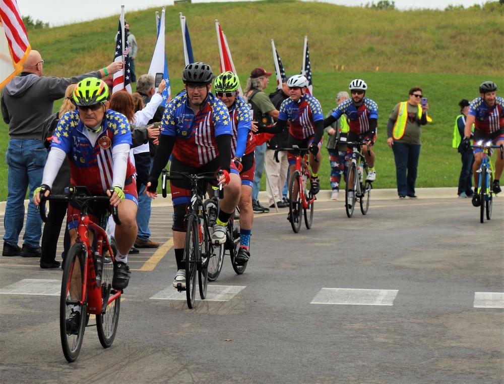
[(392, 150), (396, 160), (397, 193), (399, 196), (414, 196), (420, 144), (406, 144), (394, 141)]

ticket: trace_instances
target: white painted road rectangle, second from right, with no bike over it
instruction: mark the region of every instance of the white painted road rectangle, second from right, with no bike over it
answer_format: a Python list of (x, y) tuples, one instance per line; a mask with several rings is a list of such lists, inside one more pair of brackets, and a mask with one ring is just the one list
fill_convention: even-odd
[(393, 305), (398, 290), (322, 288), (310, 304)]

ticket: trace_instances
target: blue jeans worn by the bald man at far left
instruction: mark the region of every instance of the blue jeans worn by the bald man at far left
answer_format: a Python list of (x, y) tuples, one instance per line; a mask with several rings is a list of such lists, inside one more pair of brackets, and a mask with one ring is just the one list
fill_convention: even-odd
[(42, 235), (42, 220), (39, 212), (35, 212), (33, 191), (42, 184), (47, 149), (42, 140), (11, 139), (5, 154), (9, 166), (7, 179), (8, 195), (4, 216), (4, 242), (17, 245), (19, 234), (23, 229), (25, 218), (24, 200), (28, 187), (28, 215), (26, 218), (23, 243), (30, 247), (38, 247)]

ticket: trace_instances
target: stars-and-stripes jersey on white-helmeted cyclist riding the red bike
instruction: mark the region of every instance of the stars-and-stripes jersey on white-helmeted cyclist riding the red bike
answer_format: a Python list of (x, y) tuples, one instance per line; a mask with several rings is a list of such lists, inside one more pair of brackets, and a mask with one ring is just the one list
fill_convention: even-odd
[(296, 139), (304, 140), (315, 134), (314, 122), (324, 120), (319, 100), (305, 93), (299, 101), (290, 97), (280, 104), (278, 120), (290, 121), (289, 133)]

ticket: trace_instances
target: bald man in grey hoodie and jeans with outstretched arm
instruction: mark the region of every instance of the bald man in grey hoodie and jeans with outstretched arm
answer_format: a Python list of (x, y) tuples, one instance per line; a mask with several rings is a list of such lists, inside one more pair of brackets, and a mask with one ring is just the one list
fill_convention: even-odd
[[(111, 63), (95, 72), (70, 78), (42, 76), (44, 60), (36, 50), (30, 51), (23, 72), (2, 89), (0, 104), (2, 118), (9, 124), (9, 145), (6, 161), (9, 166), (8, 196), (4, 218), (4, 248), (2, 256), (38, 257), (42, 233), (40, 214), (35, 212), (33, 191), (42, 183), (47, 149), (42, 143), (44, 121), (53, 114), (54, 100), (65, 96), (71, 83), (86, 77), (102, 78), (122, 68), (122, 63)], [(24, 222), (24, 199), (30, 187), (28, 215), (23, 247), (18, 246)]]

